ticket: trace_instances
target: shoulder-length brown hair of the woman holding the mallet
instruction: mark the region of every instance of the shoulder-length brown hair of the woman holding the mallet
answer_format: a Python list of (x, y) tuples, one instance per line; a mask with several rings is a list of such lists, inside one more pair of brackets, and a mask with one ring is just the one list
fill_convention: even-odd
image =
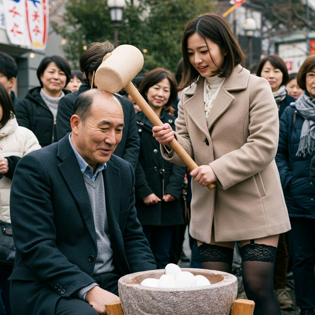
[[(199, 72), (189, 62), (189, 56), (187, 52), (188, 37), (192, 36), (193, 34), (198, 34), (201, 36), (205, 43), (207, 43), (206, 39), (210, 39), (220, 47), (221, 52), (224, 51), (226, 53), (223, 65), (218, 67), (218, 70), (213, 72), (213, 75), (218, 75), (219, 77), (229, 77), (232, 74), (235, 66), (239, 64), (244, 66), (244, 54), (226, 21), (221, 18), (221, 16), (213, 13), (199, 15), (197, 18), (190, 20), (187, 23), (182, 37), (184, 67), (182, 73), (183, 77), (179, 88), (184, 88), (190, 85), (191, 83), (195, 82), (199, 76)], [(209, 55), (211, 60), (216, 65), (210, 50)]]

